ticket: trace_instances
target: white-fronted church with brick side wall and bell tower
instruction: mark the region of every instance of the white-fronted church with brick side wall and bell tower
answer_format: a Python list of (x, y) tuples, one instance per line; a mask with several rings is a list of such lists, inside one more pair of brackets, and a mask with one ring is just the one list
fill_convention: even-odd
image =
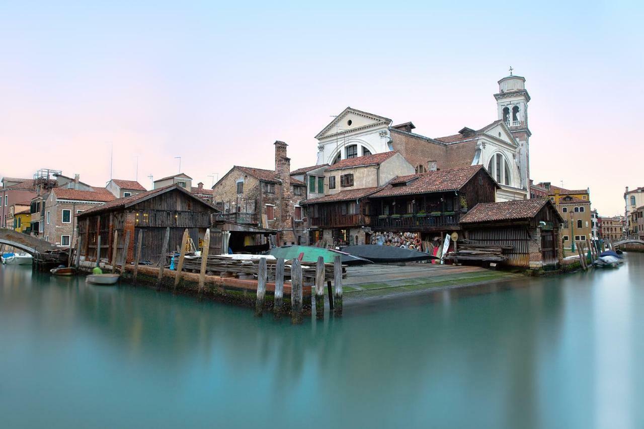
[(417, 173), (482, 165), (500, 187), (497, 201), (525, 200), (531, 136), (525, 84), (512, 74), (498, 81), (497, 120), (446, 137), (425, 137), (413, 132), (412, 122), (392, 125), (391, 119), (348, 107), (316, 135), (317, 165), (388, 151), (403, 155)]

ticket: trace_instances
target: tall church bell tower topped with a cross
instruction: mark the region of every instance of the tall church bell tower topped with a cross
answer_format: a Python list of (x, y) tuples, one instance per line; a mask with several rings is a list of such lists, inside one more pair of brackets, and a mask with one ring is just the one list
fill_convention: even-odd
[[(528, 189), (530, 183), (530, 146), (532, 135), (527, 125), (527, 104), (530, 95), (526, 91), (526, 78), (515, 76), (510, 68), (509, 76), (498, 81), (497, 99), (498, 119), (502, 119), (519, 144), (517, 161), (521, 173), (521, 187)], [(528, 192), (528, 195), (530, 193)]]

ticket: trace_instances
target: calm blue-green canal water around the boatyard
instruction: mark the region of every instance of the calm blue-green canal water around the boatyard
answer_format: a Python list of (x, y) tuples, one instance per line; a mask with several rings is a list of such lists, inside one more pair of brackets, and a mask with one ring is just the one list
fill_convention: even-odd
[(644, 427), (644, 255), (299, 327), (0, 268), (0, 426)]

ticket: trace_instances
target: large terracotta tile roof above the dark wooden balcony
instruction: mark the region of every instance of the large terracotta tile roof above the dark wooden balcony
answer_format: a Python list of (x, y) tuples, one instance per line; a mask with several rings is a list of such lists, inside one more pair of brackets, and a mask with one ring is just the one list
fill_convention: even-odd
[[(428, 194), (433, 192), (457, 191), (462, 188), (483, 166), (450, 168), (428, 173), (400, 176), (393, 179), (384, 189), (372, 195), (372, 198), (392, 195)], [(493, 179), (491, 179), (493, 180)], [(407, 185), (393, 186), (395, 184)], [(495, 182), (496, 183), (496, 182)]]

